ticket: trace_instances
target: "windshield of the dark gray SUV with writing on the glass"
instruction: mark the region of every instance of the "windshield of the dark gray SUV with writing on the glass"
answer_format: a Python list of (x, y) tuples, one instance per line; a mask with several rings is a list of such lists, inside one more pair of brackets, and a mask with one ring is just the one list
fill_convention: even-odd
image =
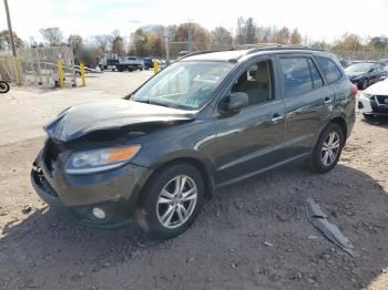
[(132, 100), (184, 110), (200, 108), (234, 65), (205, 61), (173, 63), (145, 83)]

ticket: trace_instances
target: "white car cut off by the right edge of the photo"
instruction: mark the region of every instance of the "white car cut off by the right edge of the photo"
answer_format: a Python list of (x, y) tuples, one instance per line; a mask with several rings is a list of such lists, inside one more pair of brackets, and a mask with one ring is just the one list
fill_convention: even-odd
[(361, 92), (358, 99), (358, 110), (366, 118), (374, 115), (388, 116), (388, 79)]

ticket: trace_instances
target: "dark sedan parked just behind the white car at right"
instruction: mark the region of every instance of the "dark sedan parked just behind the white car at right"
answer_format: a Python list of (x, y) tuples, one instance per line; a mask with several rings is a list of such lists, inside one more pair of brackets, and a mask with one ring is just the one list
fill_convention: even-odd
[(379, 63), (359, 62), (345, 69), (346, 75), (350, 82), (366, 90), (370, 84), (382, 81), (387, 77), (387, 72)]

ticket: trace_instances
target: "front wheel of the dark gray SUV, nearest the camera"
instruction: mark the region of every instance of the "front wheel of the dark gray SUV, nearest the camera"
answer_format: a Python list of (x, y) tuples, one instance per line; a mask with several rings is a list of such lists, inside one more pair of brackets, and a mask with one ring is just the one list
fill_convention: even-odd
[[(176, 185), (183, 182), (184, 189), (175, 191)], [(185, 194), (187, 200), (182, 201), (180, 197), (184, 198)], [(150, 236), (170, 239), (190, 228), (203, 201), (204, 183), (200, 172), (190, 164), (172, 164), (156, 172), (142, 190), (135, 219)]]

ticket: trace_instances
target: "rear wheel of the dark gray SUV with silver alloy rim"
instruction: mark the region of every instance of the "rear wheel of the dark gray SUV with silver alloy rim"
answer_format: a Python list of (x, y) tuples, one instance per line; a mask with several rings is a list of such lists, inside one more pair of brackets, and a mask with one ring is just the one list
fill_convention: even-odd
[[(333, 144), (330, 143), (330, 137), (334, 138)], [(338, 146), (335, 146), (337, 142)], [(316, 173), (327, 173), (331, 170), (338, 163), (344, 145), (345, 135), (341, 127), (337, 124), (329, 123), (321, 132), (318, 142), (313, 149), (313, 154), (308, 159), (310, 169)], [(329, 147), (325, 151), (324, 146), (326, 148)]]

